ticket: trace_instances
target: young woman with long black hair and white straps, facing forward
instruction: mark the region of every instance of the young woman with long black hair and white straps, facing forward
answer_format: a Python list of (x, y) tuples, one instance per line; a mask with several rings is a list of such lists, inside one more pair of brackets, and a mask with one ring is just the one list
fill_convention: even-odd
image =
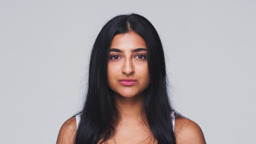
[(175, 113), (164, 51), (138, 14), (104, 25), (91, 51), (83, 110), (61, 127), (59, 143), (206, 143), (195, 122)]

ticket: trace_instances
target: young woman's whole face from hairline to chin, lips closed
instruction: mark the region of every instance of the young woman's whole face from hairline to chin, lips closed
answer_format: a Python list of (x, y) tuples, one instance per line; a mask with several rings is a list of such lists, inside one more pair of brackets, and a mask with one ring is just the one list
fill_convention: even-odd
[(147, 46), (141, 36), (135, 32), (114, 36), (107, 76), (109, 88), (126, 98), (142, 93), (149, 86)]

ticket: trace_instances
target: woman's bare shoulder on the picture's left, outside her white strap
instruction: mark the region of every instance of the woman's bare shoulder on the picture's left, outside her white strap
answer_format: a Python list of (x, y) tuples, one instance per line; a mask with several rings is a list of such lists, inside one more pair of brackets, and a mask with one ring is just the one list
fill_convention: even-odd
[(56, 144), (73, 144), (77, 131), (77, 122), (75, 117), (67, 119), (60, 128)]

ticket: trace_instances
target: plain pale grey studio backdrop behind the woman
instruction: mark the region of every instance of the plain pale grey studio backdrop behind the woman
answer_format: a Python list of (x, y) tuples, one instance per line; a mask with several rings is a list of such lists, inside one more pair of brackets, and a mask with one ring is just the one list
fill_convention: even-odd
[(1, 1), (0, 143), (55, 143), (83, 105), (103, 25), (137, 13), (164, 46), (170, 96), (207, 143), (253, 143), (255, 1)]

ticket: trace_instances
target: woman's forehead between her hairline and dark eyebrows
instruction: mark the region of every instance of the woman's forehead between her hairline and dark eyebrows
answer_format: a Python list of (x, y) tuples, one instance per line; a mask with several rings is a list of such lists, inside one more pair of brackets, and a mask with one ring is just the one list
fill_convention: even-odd
[(144, 39), (135, 32), (115, 35), (110, 45), (110, 49), (136, 49), (138, 47), (147, 49)]

